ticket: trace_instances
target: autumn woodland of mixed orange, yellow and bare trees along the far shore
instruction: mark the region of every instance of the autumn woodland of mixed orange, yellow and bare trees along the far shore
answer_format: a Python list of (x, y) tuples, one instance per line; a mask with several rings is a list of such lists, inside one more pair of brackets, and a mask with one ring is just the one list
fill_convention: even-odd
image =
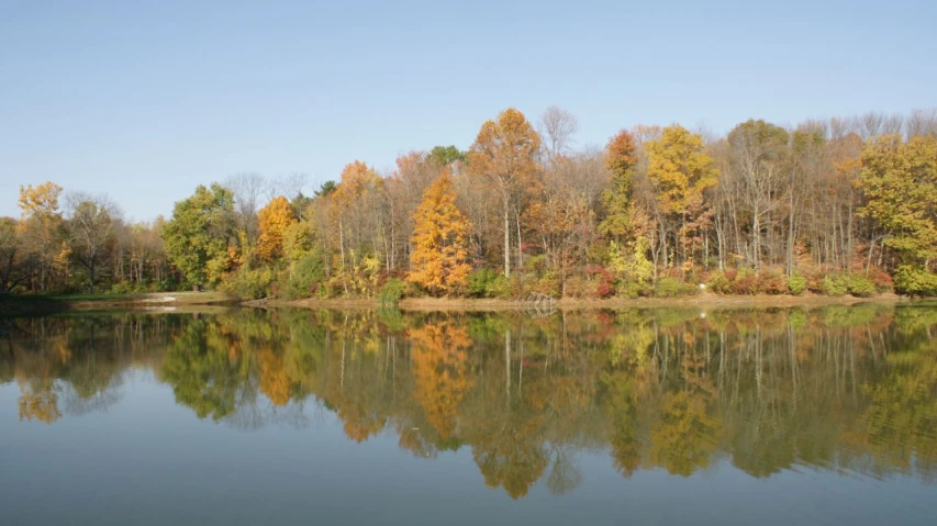
[(579, 145), (579, 121), (509, 108), (467, 149), (389, 174), (354, 160), (235, 174), (124, 221), (107, 195), (20, 187), (0, 219), (0, 290), (193, 287), (244, 299), (937, 295), (937, 110), (725, 136), (679, 124)]

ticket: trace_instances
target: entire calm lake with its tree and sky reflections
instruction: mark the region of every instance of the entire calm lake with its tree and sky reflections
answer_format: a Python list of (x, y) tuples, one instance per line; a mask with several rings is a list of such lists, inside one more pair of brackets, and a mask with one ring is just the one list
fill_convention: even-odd
[(937, 307), (0, 320), (0, 444), (11, 525), (934, 524)]

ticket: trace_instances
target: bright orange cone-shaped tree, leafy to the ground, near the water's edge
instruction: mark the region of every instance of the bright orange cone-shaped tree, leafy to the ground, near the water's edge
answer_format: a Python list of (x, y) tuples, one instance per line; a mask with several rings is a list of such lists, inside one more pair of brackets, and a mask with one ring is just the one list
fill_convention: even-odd
[(413, 251), (406, 279), (434, 294), (448, 294), (466, 284), (471, 266), (466, 262), (470, 225), (456, 206), (446, 170), (423, 193), (413, 213)]

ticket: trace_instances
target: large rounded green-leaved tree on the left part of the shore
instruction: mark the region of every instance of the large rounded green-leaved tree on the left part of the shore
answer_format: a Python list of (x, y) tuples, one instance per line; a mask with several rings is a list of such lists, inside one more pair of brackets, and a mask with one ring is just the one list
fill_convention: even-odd
[(189, 283), (216, 284), (231, 265), (234, 195), (221, 184), (199, 186), (176, 203), (163, 239), (166, 254)]

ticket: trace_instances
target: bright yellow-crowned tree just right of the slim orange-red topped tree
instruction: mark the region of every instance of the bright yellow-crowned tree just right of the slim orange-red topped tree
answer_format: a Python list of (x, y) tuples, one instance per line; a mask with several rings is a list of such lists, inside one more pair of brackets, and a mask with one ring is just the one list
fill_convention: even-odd
[[(709, 219), (703, 192), (718, 182), (718, 169), (705, 153), (703, 137), (680, 125), (663, 128), (660, 138), (649, 141), (646, 147), (647, 178), (660, 223), (679, 233), (683, 260), (692, 264), (693, 249)], [(666, 243), (666, 235), (661, 237)]]

